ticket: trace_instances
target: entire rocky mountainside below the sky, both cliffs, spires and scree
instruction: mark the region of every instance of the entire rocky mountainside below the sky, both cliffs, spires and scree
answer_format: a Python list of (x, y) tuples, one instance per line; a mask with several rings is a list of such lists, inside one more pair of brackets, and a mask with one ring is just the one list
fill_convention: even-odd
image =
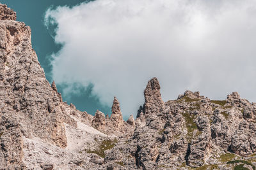
[(256, 104), (186, 91), (161, 99), (152, 78), (134, 120), (62, 101), (31, 47), (31, 31), (0, 4), (0, 169), (254, 169)]

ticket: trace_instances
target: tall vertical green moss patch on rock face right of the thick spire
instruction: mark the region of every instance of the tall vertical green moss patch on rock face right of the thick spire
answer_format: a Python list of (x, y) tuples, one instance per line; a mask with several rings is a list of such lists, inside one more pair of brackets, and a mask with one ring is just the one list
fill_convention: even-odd
[(188, 140), (191, 141), (191, 139), (193, 138), (193, 132), (195, 131), (195, 129), (198, 129), (196, 123), (193, 121), (195, 115), (190, 115), (189, 113), (183, 113), (182, 115), (186, 121), (186, 127), (188, 130)]

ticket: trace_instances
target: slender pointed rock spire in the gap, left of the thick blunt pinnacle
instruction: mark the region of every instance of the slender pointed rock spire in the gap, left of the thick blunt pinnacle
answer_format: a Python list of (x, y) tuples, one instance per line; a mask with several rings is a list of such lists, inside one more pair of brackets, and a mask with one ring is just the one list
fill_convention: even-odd
[(116, 97), (114, 97), (114, 101), (112, 105), (112, 114), (111, 114), (110, 120), (113, 122), (115, 127), (120, 127), (120, 125), (123, 124), (124, 122), (122, 117), (122, 112), (120, 109), (120, 104), (116, 99)]

